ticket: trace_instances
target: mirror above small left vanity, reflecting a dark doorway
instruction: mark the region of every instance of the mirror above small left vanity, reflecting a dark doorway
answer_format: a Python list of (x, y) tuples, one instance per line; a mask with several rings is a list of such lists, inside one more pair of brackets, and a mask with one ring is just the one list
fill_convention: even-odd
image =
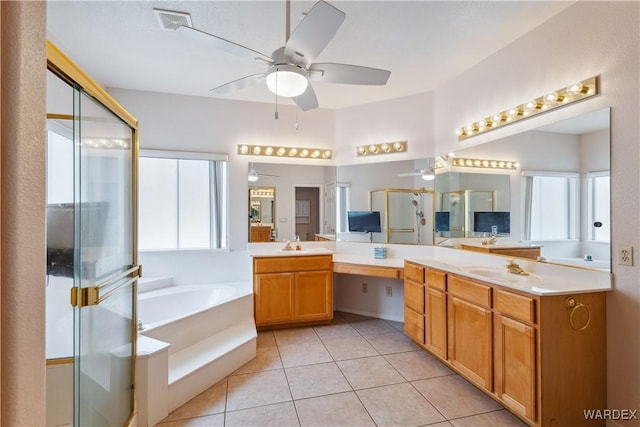
[(250, 164), (249, 241), (332, 240), (335, 170), (334, 166)]

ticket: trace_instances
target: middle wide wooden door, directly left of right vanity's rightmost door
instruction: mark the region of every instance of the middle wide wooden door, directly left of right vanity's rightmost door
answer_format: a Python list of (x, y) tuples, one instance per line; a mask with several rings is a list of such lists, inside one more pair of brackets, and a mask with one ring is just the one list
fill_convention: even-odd
[(492, 390), (491, 310), (449, 296), (449, 361), (469, 380)]

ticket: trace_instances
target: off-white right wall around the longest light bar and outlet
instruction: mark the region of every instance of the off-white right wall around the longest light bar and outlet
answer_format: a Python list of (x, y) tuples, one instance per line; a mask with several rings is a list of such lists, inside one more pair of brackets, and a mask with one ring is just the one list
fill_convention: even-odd
[[(577, 2), (547, 23), (451, 80), (435, 93), (438, 152), (458, 150), (585, 112), (611, 107), (612, 247), (640, 248), (638, 2)], [(527, 99), (599, 75), (601, 94), (458, 143), (453, 130)], [(640, 282), (613, 265), (607, 298), (609, 408), (640, 402)], [(632, 421), (625, 425), (639, 425)]]

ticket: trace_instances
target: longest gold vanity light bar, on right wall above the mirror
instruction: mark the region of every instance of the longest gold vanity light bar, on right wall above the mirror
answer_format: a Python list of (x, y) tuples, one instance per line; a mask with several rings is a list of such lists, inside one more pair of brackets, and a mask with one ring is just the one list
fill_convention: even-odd
[(581, 101), (597, 94), (598, 78), (591, 77), (499, 113), (492, 114), (484, 119), (461, 126), (456, 129), (456, 135), (458, 135), (458, 141), (462, 141), (472, 136), (515, 123), (519, 120), (535, 116), (536, 114), (551, 111), (573, 102)]

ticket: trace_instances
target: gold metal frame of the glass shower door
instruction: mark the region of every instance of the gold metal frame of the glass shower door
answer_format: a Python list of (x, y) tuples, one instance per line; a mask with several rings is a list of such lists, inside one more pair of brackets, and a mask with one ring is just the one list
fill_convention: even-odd
[[(126, 111), (115, 99), (113, 99), (100, 85), (85, 74), (76, 64), (74, 64), (66, 55), (64, 55), (53, 43), (47, 40), (47, 69), (53, 72), (61, 79), (69, 82), (73, 86), (80, 87), (86, 94), (102, 104), (107, 110), (122, 120), (132, 131), (131, 146), (131, 248), (132, 248), (132, 265), (124, 275), (131, 277), (133, 286), (132, 298), (132, 321), (131, 321), (131, 394), (130, 394), (130, 411), (127, 423), (131, 425), (135, 416), (135, 367), (136, 367), (136, 348), (137, 348), (137, 311), (136, 298), (137, 295), (137, 279), (141, 276), (141, 267), (138, 265), (138, 157), (139, 157), (139, 131), (138, 120)], [(121, 275), (122, 277), (122, 275)], [(97, 304), (98, 301), (91, 301), (92, 295), (97, 292), (98, 287), (92, 288), (72, 288), (71, 304), (84, 307)], [(106, 296), (105, 296), (106, 297)], [(97, 298), (96, 298), (97, 299)], [(81, 308), (80, 308), (81, 309)], [(76, 345), (74, 344), (74, 347)], [(75, 360), (75, 356), (74, 356)], [(74, 381), (75, 383), (75, 381)], [(76, 385), (74, 384), (74, 387)], [(74, 392), (74, 405), (76, 402), (76, 393)], [(75, 414), (75, 409), (74, 409)], [(75, 415), (74, 415), (75, 418)]]

